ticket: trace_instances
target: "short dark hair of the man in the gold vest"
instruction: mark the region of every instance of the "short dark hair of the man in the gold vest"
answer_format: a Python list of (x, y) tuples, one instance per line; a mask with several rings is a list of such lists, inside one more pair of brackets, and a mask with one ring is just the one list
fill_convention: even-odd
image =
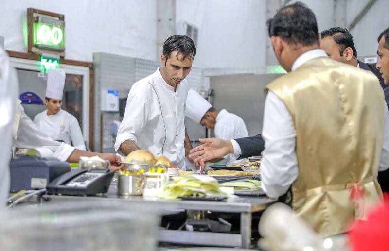
[(279, 36), (291, 45), (319, 44), (315, 14), (301, 2), (286, 5), (267, 20), (269, 37)]

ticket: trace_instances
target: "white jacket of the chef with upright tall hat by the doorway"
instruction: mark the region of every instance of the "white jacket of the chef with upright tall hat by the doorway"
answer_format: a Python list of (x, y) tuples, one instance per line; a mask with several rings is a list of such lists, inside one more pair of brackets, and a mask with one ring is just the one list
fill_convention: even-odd
[(67, 111), (60, 109), (56, 114), (47, 115), (46, 109), (35, 116), (34, 123), (52, 139), (62, 140), (79, 150), (87, 150), (77, 119)]

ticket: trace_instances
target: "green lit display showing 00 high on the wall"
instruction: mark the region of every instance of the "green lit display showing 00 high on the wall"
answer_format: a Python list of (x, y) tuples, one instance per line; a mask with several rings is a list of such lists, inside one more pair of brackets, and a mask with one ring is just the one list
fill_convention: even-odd
[(64, 22), (47, 17), (39, 17), (33, 24), (33, 44), (45, 50), (65, 50)]

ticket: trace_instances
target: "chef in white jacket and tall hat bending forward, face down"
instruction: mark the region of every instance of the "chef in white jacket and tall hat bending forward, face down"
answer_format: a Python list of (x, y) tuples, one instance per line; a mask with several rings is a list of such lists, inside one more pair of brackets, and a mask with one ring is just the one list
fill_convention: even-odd
[[(195, 90), (188, 91), (185, 116), (208, 129), (214, 129), (216, 138), (227, 140), (248, 137), (246, 124), (241, 117), (229, 113), (226, 109), (219, 111), (213, 108)], [(224, 156), (224, 160), (221, 160), (220, 164), (233, 162), (237, 162), (236, 158), (233, 157), (233, 154), (228, 154)]]

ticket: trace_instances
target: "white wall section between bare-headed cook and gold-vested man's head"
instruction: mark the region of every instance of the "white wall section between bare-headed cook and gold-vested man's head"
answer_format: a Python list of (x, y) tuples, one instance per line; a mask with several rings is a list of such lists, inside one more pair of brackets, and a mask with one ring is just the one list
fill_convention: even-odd
[(197, 67), (265, 66), (265, 14), (265, 0), (176, 1), (177, 25), (199, 28)]

